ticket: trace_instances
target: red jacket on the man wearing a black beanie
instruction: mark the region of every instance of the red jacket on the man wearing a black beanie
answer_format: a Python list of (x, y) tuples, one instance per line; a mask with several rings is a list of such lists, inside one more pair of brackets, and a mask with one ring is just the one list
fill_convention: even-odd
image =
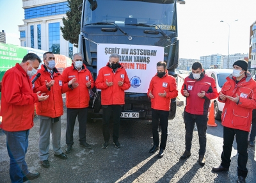
[(220, 102), (225, 103), (221, 114), (222, 125), (249, 132), (252, 123), (252, 110), (256, 109), (256, 83), (252, 76), (246, 72), (246, 77), (236, 84), (236, 78), (230, 74), (221, 88), (221, 93), (230, 97), (239, 95), (238, 104), (229, 99), (221, 100), (218, 97)]

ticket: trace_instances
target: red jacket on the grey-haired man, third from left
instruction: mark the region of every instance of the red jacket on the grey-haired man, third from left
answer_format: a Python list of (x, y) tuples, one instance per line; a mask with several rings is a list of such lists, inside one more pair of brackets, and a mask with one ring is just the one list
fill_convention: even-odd
[(86, 83), (91, 81), (91, 87), (94, 87), (94, 81), (90, 70), (83, 65), (82, 69), (78, 71), (74, 65), (65, 68), (62, 74), (64, 83), (68, 83), (71, 79), (76, 77), (76, 83), (79, 84), (77, 88), (70, 90), (66, 93), (66, 106), (68, 108), (84, 108), (89, 106), (89, 88)]

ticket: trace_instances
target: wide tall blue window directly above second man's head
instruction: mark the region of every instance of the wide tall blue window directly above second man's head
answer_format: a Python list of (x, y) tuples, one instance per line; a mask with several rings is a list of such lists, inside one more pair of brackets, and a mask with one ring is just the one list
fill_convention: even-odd
[(49, 24), (49, 51), (60, 54), (60, 22)]

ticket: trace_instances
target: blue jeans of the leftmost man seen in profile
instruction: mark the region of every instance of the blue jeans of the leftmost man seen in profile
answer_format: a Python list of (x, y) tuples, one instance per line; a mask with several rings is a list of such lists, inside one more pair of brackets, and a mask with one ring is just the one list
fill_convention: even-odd
[(24, 175), (29, 173), (25, 161), (28, 149), (29, 130), (8, 132), (6, 134), (6, 147), (10, 157), (10, 179), (12, 182), (23, 182)]

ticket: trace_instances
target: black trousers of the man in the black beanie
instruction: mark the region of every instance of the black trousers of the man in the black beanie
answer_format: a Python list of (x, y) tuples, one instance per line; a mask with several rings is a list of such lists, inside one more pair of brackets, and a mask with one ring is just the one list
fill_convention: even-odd
[(246, 131), (241, 131), (238, 129), (231, 129), (228, 127), (223, 127), (223, 151), (221, 153), (221, 166), (224, 168), (229, 168), (231, 162), (231, 151), (234, 141), (234, 136), (236, 135), (237, 143), (237, 176), (246, 177), (248, 170), (246, 168), (248, 160), (248, 133)]

